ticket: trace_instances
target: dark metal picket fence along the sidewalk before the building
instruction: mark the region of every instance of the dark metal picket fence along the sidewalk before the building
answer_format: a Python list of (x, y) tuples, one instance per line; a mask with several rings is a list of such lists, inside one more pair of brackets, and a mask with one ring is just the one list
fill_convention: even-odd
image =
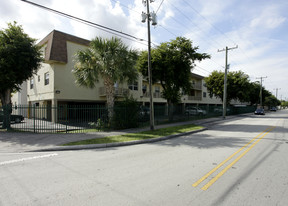
[[(155, 125), (171, 121), (191, 121), (222, 115), (221, 106), (173, 107), (173, 119), (165, 105), (154, 106)], [(228, 107), (227, 115), (254, 112), (255, 107)], [(109, 120), (108, 108), (103, 105), (60, 105), (57, 107), (17, 105), (0, 107), (0, 128), (33, 133), (83, 133), (104, 129), (127, 129), (149, 126), (149, 107), (138, 104), (117, 104)]]

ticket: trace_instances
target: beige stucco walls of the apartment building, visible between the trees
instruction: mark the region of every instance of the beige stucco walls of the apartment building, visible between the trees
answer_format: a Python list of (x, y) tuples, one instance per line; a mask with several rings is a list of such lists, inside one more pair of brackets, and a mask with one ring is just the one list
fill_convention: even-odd
[[(45, 48), (45, 46), (43, 47)], [(73, 42), (67, 42), (67, 55), (68, 63), (43, 63), (41, 69), (37, 72), (37, 75), (34, 75), (34, 88), (30, 89), (30, 81), (27, 82), (27, 94), (29, 102), (43, 102), (45, 100), (52, 100), (52, 104), (55, 105), (57, 101), (93, 101), (93, 102), (105, 102), (106, 97), (100, 96), (99, 88), (103, 87), (103, 81), (100, 81), (96, 84), (96, 87), (93, 89), (85, 88), (76, 85), (75, 77), (72, 73), (74, 68), (74, 58), (75, 54), (79, 50), (86, 49), (86, 46), (76, 44)], [(49, 72), (49, 85), (44, 85), (44, 74)], [(40, 81), (38, 81), (38, 76), (40, 76)], [(196, 91), (202, 96), (201, 101), (189, 100), (187, 95), (184, 95), (181, 98), (182, 103), (184, 104), (222, 104), (220, 99), (215, 97), (210, 98), (207, 88), (204, 85), (204, 80), (194, 79), (196, 83), (201, 82), (202, 91)], [(148, 103), (150, 101), (149, 96), (145, 96), (142, 92), (143, 85), (147, 86), (147, 92), (149, 92), (148, 81), (143, 79), (142, 75), (139, 74), (138, 79), (138, 90), (129, 90), (129, 94), (132, 95), (137, 101), (142, 103)], [(128, 84), (119, 84), (121, 88), (128, 89)], [(152, 86), (152, 92), (155, 92), (155, 88), (160, 87), (160, 93), (163, 91), (163, 88), (160, 84), (155, 84)], [(56, 92), (57, 91), (57, 92)], [(203, 97), (203, 92), (206, 92), (206, 97)], [(121, 98), (118, 98), (121, 100)], [(154, 103), (167, 103), (167, 100), (156, 97), (153, 98)]]

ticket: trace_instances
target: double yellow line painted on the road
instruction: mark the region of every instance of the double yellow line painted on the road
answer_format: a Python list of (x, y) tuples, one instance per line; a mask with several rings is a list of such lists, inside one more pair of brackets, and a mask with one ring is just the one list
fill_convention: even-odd
[(226, 160), (221, 162), (217, 167), (212, 169), (210, 172), (208, 172), (206, 175), (201, 177), (197, 182), (195, 182), (192, 186), (197, 187), (201, 182), (203, 182), (205, 179), (207, 179), (211, 174), (213, 174), (216, 170), (218, 170), (220, 167), (222, 167), (225, 163), (227, 163), (229, 160), (231, 160), (234, 156), (236, 156), (238, 153), (240, 153), (243, 149), (245, 149), (248, 145), (250, 145), (253, 141), (255, 141), (248, 149), (246, 149), (241, 155), (239, 155), (233, 162), (231, 162), (228, 166), (226, 166), (221, 172), (219, 172), (215, 177), (213, 177), (206, 185), (204, 185), (201, 189), (207, 190), (212, 184), (214, 184), (225, 172), (227, 172), (228, 169), (230, 169), (236, 162), (238, 162), (247, 152), (249, 152), (261, 139), (263, 139), (269, 132), (271, 132), (275, 127), (268, 127), (266, 130), (258, 134), (255, 138), (253, 138), (250, 142), (248, 142), (246, 145), (241, 147), (238, 151), (233, 153), (230, 157), (228, 157)]

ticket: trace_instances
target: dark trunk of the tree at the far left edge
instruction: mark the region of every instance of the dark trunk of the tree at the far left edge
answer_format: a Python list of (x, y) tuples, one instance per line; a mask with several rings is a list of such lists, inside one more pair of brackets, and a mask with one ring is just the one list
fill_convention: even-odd
[(0, 94), (2, 108), (4, 112), (3, 118), (3, 129), (11, 128), (11, 113), (12, 113), (12, 104), (11, 104), (11, 89), (6, 89), (3, 93)]

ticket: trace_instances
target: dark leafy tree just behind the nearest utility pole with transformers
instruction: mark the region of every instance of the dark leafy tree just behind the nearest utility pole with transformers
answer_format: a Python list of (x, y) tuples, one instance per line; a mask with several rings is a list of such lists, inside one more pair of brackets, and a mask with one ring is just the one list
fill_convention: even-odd
[[(210, 58), (206, 53), (197, 53), (198, 47), (185, 37), (177, 37), (170, 42), (161, 43), (151, 50), (152, 81), (160, 82), (162, 96), (169, 105), (169, 117), (172, 118), (172, 105), (180, 102), (181, 91), (189, 93), (192, 89), (191, 70), (195, 61)], [(147, 76), (148, 53), (143, 51), (137, 67), (143, 76)]]

